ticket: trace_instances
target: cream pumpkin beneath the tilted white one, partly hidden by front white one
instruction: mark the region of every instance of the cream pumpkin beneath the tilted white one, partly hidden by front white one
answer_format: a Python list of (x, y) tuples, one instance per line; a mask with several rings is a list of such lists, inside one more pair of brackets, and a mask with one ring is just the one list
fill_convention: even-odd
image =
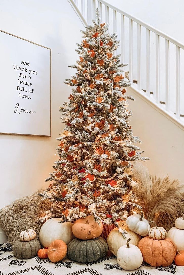
[(107, 244), (110, 249), (110, 251), (116, 255), (118, 249), (122, 246), (125, 245), (127, 240), (131, 238), (130, 243), (138, 246), (138, 243), (141, 239), (141, 237), (136, 234), (135, 232), (131, 231), (128, 227), (121, 227), (122, 229), (127, 231), (127, 234), (125, 234), (126, 239), (123, 238), (121, 233), (118, 232), (118, 228), (116, 227), (115, 229), (111, 230), (107, 237)]

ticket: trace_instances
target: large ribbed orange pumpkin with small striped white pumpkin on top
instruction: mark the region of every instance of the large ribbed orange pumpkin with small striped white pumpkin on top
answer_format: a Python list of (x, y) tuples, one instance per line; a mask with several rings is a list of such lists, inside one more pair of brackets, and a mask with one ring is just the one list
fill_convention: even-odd
[(138, 244), (143, 260), (151, 266), (169, 266), (176, 255), (176, 246), (169, 238), (152, 240), (149, 236), (142, 238)]

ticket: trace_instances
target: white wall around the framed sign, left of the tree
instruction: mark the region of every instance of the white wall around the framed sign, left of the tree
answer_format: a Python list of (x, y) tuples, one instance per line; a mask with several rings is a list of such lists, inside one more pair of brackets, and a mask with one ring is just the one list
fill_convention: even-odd
[[(63, 83), (74, 74), (82, 23), (67, 0), (1, 0), (0, 29), (52, 49), (52, 137), (0, 135), (0, 208), (48, 186), (45, 178), (57, 160), (55, 148), (63, 126), (59, 106), (71, 88)], [(2, 81), (2, 80), (1, 80)], [(44, 98), (43, 98), (44, 104)], [(2, 229), (0, 229), (0, 232)], [(0, 233), (0, 243), (5, 241)]]

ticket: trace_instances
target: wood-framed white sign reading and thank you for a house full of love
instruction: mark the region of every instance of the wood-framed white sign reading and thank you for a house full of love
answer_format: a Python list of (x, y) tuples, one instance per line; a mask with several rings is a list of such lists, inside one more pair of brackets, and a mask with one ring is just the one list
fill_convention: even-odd
[(51, 49), (0, 31), (0, 133), (51, 136)]

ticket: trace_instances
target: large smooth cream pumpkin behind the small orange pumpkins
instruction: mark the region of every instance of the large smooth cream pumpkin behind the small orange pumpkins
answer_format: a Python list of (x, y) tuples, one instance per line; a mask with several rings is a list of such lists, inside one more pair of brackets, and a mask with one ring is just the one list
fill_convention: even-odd
[(39, 239), (43, 248), (49, 247), (54, 240), (62, 240), (69, 244), (75, 238), (71, 230), (73, 224), (71, 222), (59, 224), (60, 221), (61, 218), (52, 218), (41, 227)]

